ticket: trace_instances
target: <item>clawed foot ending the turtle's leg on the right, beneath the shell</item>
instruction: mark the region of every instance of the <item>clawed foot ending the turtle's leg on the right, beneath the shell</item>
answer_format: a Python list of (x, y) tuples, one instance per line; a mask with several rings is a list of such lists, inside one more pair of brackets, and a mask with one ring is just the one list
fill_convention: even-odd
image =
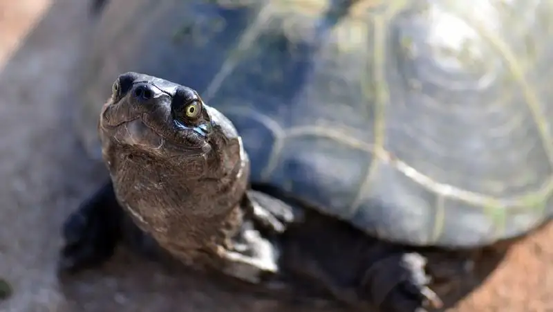
[(440, 309), (442, 300), (429, 287), (426, 259), (404, 253), (377, 262), (366, 273), (364, 286), (382, 311), (425, 312)]

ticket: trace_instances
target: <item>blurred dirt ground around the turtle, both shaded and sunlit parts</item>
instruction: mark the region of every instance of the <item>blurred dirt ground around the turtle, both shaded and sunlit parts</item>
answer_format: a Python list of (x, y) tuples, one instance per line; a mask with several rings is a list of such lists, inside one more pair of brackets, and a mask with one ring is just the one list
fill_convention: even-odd
[[(59, 227), (104, 177), (71, 131), (85, 3), (0, 1), (0, 277), (14, 289), (0, 311), (338, 311), (238, 293), (124, 252), (98, 272), (58, 279)], [(518, 242), (448, 311), (553, 311), (552, 241), (550, 225)]]

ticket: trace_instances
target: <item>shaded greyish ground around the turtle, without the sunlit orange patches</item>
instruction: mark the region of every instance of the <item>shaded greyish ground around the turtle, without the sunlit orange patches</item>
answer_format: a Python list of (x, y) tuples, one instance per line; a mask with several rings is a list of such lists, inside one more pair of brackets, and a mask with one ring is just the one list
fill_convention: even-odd
[[(0, 72), (0, 276), (14, 289), (0, 310), (344, 311), (252, 295), (226, 280), (162, 267), (125, 250), (101, 270), (59, 281), (62, 221), (106, 177), (72, 129), (74, 91), (86, 87), (73, 79), (90, 22), (85, 2), (57, 1)], [(447, 290), (446, 302), (482, 284), (503, 255), (482, 254), (478, 274)]]

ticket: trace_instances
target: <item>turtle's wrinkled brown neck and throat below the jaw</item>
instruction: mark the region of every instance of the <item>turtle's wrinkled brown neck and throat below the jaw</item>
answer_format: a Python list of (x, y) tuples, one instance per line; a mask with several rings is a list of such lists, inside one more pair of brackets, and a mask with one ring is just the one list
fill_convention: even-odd
[(133, 221), (174, 253), (205, 249), (206, 241), (228, 246), (241, 226), (238, 205), (250, 173), (241, 138), (216, 126), (225, 135), (213, 136), (205, 154), (179, 156), (167, 140), (158, 152), (122, 144), (116, 131), (129, 127), (100, 125), (99, 132), (115, 194)]

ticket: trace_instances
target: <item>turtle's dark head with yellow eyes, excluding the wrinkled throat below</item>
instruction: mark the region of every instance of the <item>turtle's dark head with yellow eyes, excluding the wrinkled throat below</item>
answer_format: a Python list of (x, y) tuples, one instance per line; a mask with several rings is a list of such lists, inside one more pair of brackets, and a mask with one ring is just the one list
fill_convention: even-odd
[(115, 80), (98, 130), (108, 164), (142, 156), (188, 177), (213, 178), (226, 175), (243, 154), (232, 123), (194, 89), (140, 73)]

